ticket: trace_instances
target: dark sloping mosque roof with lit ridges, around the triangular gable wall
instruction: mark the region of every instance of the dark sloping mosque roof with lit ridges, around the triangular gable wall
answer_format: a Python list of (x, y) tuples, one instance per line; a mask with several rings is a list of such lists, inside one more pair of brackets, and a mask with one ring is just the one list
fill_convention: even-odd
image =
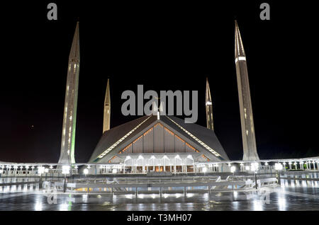
[(213, 130), (196, 124), (184, 123), (184, 120), (174, 116), (161, 115), (157, 120), (155, 115), (145, 115), (104, 132), (89, 163), (99, 163), (102, 158), (103, 162), (110, 160), (158, 122), (204, 154), (210, 161), (229, 160)]

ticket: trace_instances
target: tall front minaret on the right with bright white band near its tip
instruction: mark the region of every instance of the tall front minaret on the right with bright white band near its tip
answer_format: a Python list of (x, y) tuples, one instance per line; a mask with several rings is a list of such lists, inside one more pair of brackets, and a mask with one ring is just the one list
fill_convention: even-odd
[(235, 21), (235, 64), (237, 74), (238, 97), (240, 102), (240, 121), (242, 125), (242, 160), (259, 160), (254, 137), (254, 120), (252, 117), (252, 100), (250, 98), (250, 83), (246, 63), (246, 54), (242, 45), (240, 30)]

